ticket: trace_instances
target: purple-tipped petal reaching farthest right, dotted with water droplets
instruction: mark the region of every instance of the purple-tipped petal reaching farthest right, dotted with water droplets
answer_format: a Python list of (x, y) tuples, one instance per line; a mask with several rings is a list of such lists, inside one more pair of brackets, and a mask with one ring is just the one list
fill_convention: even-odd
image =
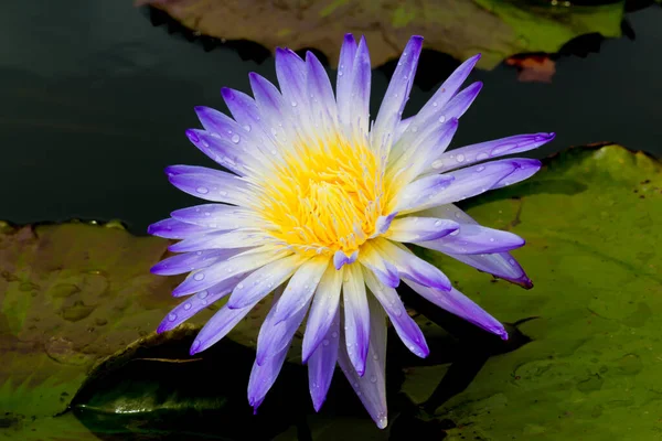
[(544, 143), (552, 141), (554, 137), (554, 133), (516, 135), (514, 137), (462, 147), (441, 154), (431, 163), (428, 162), (424, 173), (442, 173), (488, 159), (537, 149)]

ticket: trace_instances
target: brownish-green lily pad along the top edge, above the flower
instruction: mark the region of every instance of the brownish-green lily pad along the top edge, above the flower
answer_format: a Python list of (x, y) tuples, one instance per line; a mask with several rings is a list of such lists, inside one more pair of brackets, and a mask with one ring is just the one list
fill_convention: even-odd
[(373, 66), (395, 60), (413, 34), (428, 49), (466, 60), (482, 52), (478, 66), (492, 68), (511, 55), (554, 53), (572, 39), (621, 35), (623, 1), (598, 7), (532, 6), (502, 0), (137, 0), (163, 9), (204, 35), (249, 40), (268, 49), (314, 47), (335, 65), (339, 39), (346, 32), (367, 37)]

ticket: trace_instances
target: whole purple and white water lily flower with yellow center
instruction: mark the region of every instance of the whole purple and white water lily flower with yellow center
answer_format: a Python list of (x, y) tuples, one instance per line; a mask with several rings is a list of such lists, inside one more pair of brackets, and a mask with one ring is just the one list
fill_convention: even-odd
[(319, 60), (276, 52), (280, 90), (252, 73), (254, 97), (223, 88), (233, 118), (195, 111), (203, 130), (189, 140), (227, 171), (173, 165), (170, 182), (209, 203), (178, 209), (149, 227), (181, 239), (152, 268), (189, 273), (173, 290), (183, 302), (159, 326), (171, 330), (227, 297), (191, 347), (223, 338), (267, 295), (273, 305), (257, 337), (248, 401), (257, 409), (306, 319), (302, 361), (313, 407), (322, 406), (337, 363), (380, 428), (387, 422), (386, 316), (403, 343), (428, 355), (407, 314), (401, 281), (428, 301), (503, 338), (503, 325), (456, 290), (448, 277), (404, 244), (441, 251), (524, 287), (531, 281), (509, 250), (519, 236), (478, 225), (455, 202), (520, 182), (541, 163), (499, 159), (535, 149), (554, 133), (520, 135), (445, 152), (482, 84), (460, 89), (478, 62), (462, 63), (408, 119), (423, 39), (405, 47), (371, 121), (371, 64), (364, 39), (345, 35), (335, 93)]

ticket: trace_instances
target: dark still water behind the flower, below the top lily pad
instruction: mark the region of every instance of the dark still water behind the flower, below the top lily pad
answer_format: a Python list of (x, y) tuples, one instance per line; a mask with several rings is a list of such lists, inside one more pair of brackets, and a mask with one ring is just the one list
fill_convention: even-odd
[[(455, 144), (556, 131), (534, 155), (599, 141), (662, 155), (662, 8), (627, 20), (634, 40), (560, 57), (552, 84), (520, 83), (503, 64), (472, 74), (485, 87)], [(184, 137), (197, 127), (193, 106), (223, 109), (220, 88), (247, 90), (250, 71), (275, 78), (270, 57), (257, 64), (228, 46), (205, 52), (152, 26), (129, 0), (4, 1), (0, 29), (0, 219), (20, 224), (119, 218), (142, 234), (192, 204), (162, 169), (210, 163)], [(385, 90), (384, 71), (373, 76), (374, 97)], [(434, 92), (419, 85), (409, 111)]]

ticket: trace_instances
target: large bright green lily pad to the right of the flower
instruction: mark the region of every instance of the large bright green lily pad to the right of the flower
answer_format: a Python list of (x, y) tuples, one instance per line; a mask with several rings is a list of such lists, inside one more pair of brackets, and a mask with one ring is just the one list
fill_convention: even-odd
[[(478, 222), (524, 237), (523, 290), (421, 251), (459, 289), (532, 342), (487, 361), (461, 394), (435, 402), (448, 440), (652, 440), (662, 437), (662, 175), (618, 146), (570, 149), (533, 179), (471, 201)], [(450, 365), (413, 369), (428, 399)], [(429, 407), (429, 402), (428, 402)]]

